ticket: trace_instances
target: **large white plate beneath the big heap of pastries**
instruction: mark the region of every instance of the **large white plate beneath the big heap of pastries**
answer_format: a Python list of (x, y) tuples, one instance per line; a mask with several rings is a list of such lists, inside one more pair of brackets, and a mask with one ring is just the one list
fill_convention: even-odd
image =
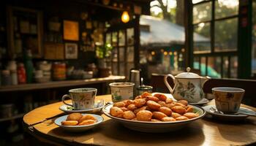
[(196, 107), (194, 105), (191, 105), (191, 106), (194, 108), (194, 112), (197, 112), (199, 114), (197, 118), (192, 118), (189, 120), (171, 121), (171, 122), (147, 122), (147, 121), (126, 120), (123, 118), (116, 118), (110, 115), (110, 108), (113, 107), (113, 104), (106, 105), (102, 109), (102, 111), (109, 118), (118, 120), (125, 127), (130, 128), (132, 130), (150, 132), (150, 133), (161, 133), (161, 132), (167, 132), (167, 131), (176, 131), (179, 128), (183, 128), (188, 123), (191, 123), (192, 121), (203, 118), (203, 116), (206, 115), (205, 110), (203, 110), (201, 107)]

